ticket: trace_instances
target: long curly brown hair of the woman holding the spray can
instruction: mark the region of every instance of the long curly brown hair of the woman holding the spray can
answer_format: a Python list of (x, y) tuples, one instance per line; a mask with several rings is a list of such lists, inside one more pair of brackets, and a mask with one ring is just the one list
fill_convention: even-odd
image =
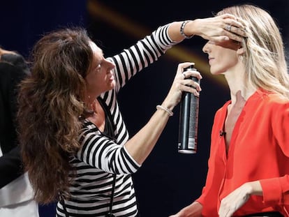
[(67, 195), (69, 160), (79, 149), (84, 93), (93, 52), (81, 28), (40, 38), (31, 52), (31, 76), (20, 84), (17, 121), (25, 169), (37, 202)]

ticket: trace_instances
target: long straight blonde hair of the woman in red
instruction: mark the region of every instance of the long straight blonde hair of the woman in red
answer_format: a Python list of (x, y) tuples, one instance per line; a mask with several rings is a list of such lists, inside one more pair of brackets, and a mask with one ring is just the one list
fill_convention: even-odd
[(279, 27), (269, 13), (253, 5), (224, 8), (217, 15), (229, 13), (246, 22), (243, 61), (251, 87), (279, 93), (289, 98), (289, 75)]

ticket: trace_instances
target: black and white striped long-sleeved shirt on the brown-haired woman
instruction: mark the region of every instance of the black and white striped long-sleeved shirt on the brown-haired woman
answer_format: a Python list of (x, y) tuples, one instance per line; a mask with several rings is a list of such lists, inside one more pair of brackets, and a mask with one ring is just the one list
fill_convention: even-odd
[(112, 174), (117, 174), (112, 208), (114, 216), (138, 214), (131, 174), (141, 165), (124, 147), (128, 132), (119, 111), (117, 93), (135, 73), (156, 61), (175, 44), (168, 37), (168, 25), (165, 25), (121, 54), (108, 58), (116, 65), (114, 78), (117, 85), (103, 93), (101, 99), (112, 118), (114, 140), (101, 133), (90, 121), (84, 121), (80, 135), (82, 149), (71, 160), (77, 173), (69, 188), (71, 198), (57, 204), (57, 216), (105, 216), (110, 207)]

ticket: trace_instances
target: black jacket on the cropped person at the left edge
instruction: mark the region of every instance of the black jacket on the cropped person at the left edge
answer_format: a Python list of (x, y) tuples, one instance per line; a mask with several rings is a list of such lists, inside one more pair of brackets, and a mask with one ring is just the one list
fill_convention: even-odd
[(0, 188), (19, 177), (22, 171), (20, 147), (17, 142), (15, 117), (17, 84), (29, 73), (19, 54), (2, 54), (0, 59)]

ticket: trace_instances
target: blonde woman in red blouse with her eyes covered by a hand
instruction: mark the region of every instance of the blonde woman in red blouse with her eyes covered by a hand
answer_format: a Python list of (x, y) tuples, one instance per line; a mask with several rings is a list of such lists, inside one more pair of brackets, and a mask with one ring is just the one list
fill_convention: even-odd
[(247, 37), (203, 47), (231, 99), (214, 118), (202, 195), (173, 216), (289, 216), (289, 77), (281, 34), (257, 6), (218, 15), (224, 13), (244, 21)]

